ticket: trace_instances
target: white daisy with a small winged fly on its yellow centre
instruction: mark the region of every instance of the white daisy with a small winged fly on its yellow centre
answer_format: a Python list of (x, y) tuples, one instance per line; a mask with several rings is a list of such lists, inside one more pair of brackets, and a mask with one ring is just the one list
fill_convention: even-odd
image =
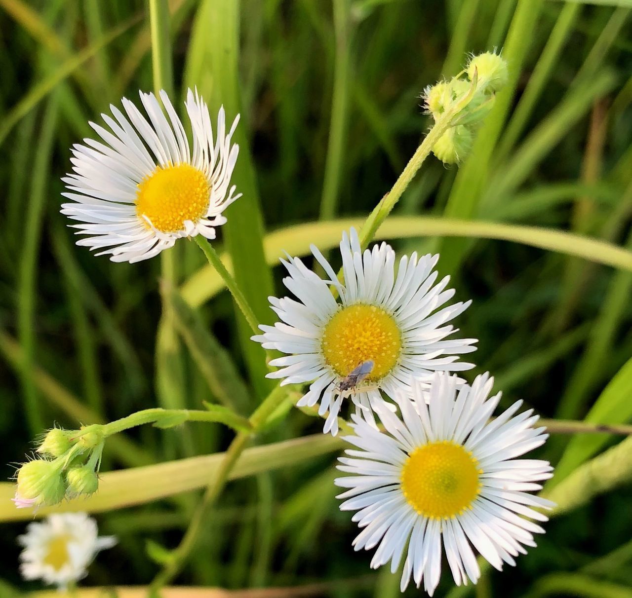
[[(370, 418), (370, 405), (381, 400), (380, 390), (392, 396), (407, 388), (413, 375), (428, 381), (437, 370), (473, 367), (456, 360), (458, 354), (475, 350), (476, 340), (447, 339), (458, 330), (447, 322), (470, 301), (446, 306), (454, 290), (446, 289), (447, 276), (435, 284), (438, 255), (403, 256), (396, 272), (391, 246), (382, 243), (362, 253), (358, 234), (351, 229), (340, 243), (344, 273), (340, 284), (322, 253), (313, 245), (311, 249), (329, 279), (308, 270), (299, 258), (282, 260), (289, 272), (283, 282), (298, 301), (270, 297), (281, 321), (260, 326), (264, 333), (252, 338), (266, 349), (288, 354), (270, 362), (281, 369), (269, 378), (285, 378), (282, 384), (312, 382), (298, 405), (311, 407), (320, 401), (320, 415), (329, 410), (325, 432), (337, 433), (337, 415), (349, 393)], [(349, 374), (367, 362), (370, 373), (355, 388)]]

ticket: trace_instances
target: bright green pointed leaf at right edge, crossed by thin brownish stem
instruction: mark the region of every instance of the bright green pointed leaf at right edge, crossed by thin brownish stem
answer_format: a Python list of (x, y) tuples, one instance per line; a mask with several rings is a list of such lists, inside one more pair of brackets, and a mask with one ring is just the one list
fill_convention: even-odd
[[(593, 424), (624, 424), (632, 420), (632, 357), (612, 378), (585, 421)], [(575, 436), (556, 467), (552, 483), (559, 483), (586, 459), (612, 441), (608, 434)]]

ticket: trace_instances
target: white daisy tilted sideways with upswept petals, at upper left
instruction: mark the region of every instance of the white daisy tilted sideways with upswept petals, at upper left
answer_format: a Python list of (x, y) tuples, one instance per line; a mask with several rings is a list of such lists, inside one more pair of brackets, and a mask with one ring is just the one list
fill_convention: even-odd
[(71, 203), (61, 212), (82, 224), (74, 225), (77, 242), (111, 254), (112, 261), (140, 261), (173, 246), (180, 237), (216, 236), (224, 224), (222, 212), (240, 197), (229, 188), (239, 148), (231, 137), (239, 117), (226, 134), (224, 109), (217, 117), (216, 136), (209, 109), (188, 90), (186, 112), (193, 131), (193, 151), (182, 121), (167, 97), (161, 105), (153, 93), (140, 92), (149, 121), (123, 98), (121, 112), (110, 105), (102, 118), (111, 130), (90, 126), (101, 140), (83, 140), (72, 149), (73, 172), (62, 180)]

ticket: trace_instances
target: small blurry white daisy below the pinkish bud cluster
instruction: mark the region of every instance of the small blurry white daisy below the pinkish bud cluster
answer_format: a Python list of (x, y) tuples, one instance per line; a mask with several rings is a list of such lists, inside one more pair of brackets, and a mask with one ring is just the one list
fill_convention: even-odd
[(24, 547), (22, 577), (63, 589), (85, 577), (95, 555), (114, 546), (116, 538), (97, 537), (97, 523), (86, 513), (56, 513), (41, 523), (30, 523), (18, 543)]

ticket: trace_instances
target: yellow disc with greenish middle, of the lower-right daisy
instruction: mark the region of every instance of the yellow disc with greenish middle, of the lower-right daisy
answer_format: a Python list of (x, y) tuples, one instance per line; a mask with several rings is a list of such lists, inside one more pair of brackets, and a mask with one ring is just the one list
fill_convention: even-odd
[(401, 472), (401, 489), (420, 515), (450, 519), (470, 508), (480, 492), (482, 473), (463, 446), (432, 442), (410, 453)]

